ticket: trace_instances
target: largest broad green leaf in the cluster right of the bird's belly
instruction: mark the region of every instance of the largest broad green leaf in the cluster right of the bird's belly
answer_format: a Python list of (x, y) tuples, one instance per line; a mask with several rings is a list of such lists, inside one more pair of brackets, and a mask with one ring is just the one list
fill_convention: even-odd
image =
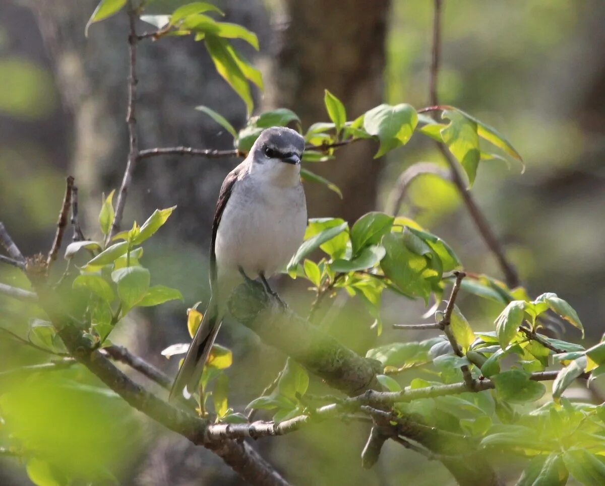
[(425, 278), (425, 271), (430, 270), (427, 258), (408, 250), (401, 233), (388, 233), (382, 238), (382, 245), (387, 251), (381, 261), (384, 274), (405, 295), (428, 302), (431, 283)]

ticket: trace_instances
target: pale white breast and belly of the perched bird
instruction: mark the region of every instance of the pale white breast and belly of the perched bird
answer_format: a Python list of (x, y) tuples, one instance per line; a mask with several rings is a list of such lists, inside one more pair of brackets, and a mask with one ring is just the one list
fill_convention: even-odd
[(237, 181), (218, 225), (218, 279), (232, 279), (239, 267), (250, 278), (280, 271), (302, 243), (306, 225), (301, 184), (280, 187), (253, 177)]

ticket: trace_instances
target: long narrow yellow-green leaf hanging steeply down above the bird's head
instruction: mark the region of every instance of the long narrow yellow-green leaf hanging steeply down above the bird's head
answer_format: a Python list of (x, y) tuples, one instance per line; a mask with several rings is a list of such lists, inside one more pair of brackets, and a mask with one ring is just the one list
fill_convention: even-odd
[(234, 51), (227, 40), (215, 35), (206, 35), (204, 38), (206, 49), (214, 62), (214, 66), (224, 80), (234, 89), (246, 103), (248, 113), (252, 112), (253, 102), (247, 77), (241, 70), (240, 60), (234, 57)]

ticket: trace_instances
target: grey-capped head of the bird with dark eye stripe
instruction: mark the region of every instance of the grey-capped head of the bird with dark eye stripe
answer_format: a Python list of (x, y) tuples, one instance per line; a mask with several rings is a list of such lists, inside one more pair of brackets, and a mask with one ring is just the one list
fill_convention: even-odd
[(252, 146), (250, 170), (267, 173), (276, 182), (298, 184), (302, 152), (304, 138), (298, 132), (283, 126), (272, 126), (261, 132)]

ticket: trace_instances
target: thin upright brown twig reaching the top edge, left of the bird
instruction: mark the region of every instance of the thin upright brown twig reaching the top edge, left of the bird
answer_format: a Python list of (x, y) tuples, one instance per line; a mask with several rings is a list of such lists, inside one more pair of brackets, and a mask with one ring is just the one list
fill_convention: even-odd
[(124, 171), (124, 177), (122, 178), (122, 186), (120, 186), (120, 193), (117, 198), (116, 212), (114, 214), (113, 222), (111, 223), (111, 231), (107, 235), (105, 243), (111, 241), (111, 238), (119, 232), (120, 224), (122, 223), (122, 216), (124, 214), (124, 206), (126, 206), (126, 196), (128, 196), (128, 189), (132, 183), (132, 173), (136, 167), (137, 160), (139, 159), (139, 141), (137, 139), (137, 119), (136, 119), (136, 101), (137, 101), (137, 32), (135, 22), (137, 19), (137, 11), (132, 5), (132, 1), (128, 2), (128, 24), (130, 28), (128, 36), (128, 48), (130, 54), (130, 73), (128, 76), (128, 112), (126, 114), (126, 123), (128, 125), (128, 139), (129, 139), (129, 152), (128, 162), (126, 163), (126, 170)]

